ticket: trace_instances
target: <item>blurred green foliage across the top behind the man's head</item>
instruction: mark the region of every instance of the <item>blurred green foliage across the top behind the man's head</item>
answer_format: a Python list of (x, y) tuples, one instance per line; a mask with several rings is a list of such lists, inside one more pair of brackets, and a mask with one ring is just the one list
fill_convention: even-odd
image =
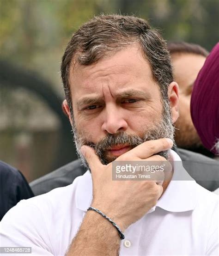
[(101, 12), (146, 18), (167, 40), (218, 41), (218, 0), (0, 0), (0, 55), (58, 81), (68, 38)]

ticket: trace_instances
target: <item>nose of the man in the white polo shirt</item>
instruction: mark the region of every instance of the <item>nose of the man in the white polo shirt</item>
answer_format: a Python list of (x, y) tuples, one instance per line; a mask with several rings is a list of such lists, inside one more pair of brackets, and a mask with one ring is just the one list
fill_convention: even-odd
[(126, 131), (128, 123), (124, 112), (116, 106), (106, 107), (102, 130), (106, 133), (116, 134), (118, 131)]

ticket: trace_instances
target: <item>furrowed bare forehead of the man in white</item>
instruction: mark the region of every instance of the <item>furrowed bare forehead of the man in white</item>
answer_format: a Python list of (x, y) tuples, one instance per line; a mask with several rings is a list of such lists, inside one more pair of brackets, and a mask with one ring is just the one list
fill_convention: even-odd
[[(120, 61), (120, 59), (117, 60), (118, 58), (114, 59), (114, 61), (114, 56), (112, 56), (112, 59), (110, 57), (111, 61), (109, 59), (99, 60), (88, 66), (76, 63), (73, 70), (73, 76), (71, 76), (71, 84), (72, 87), (74, 87), (74, 98), (80, 98), (83, 94), (84, 96), (86, 96), (86, 94), (87, 96), (89, 96), (89, 94), (95, 95), (96, 93), (100, 95), (103, 93), (103, 87), (106, 89), (106, 87), (110, 86), (110, 94), (112, 95), (115, 94), (118, 89), (122, 91), (122, 89), (128, 89), (128, 87), (135, 87), (135, 84), (142, 84), (142, 79), (140, 79), (142, 77), (142, 72), (140, 72), (142, 71), (142, 66), (140, 66), (139, 69), (135, 68), (135, 72), (133, 72), (133, 63), (132, 61), (129, 61), (129, 55), (127, 55), (127, 53), (124, 55), (123, 53), (122, 56), (124, 57), (123, 61)], [(139, 56), (139, 51), (136, 51), (136, 56), (138, 61), (136, 63), (137, 66), (139, 66), (140, 62), (144, 65), (146, 64), (146, 67), (144, 67), (146, 73), (144, 76), (144, 83), (150, 83), (151, 80), (153, 81), (153, 78), (148, 61), (140, 58), (141, 55)], [(132, 65), (129, 65), (129, 62)], [(79, 90), (79, 87), (82, 90)], [(108, 93), (109, 96), (110, 94)]]

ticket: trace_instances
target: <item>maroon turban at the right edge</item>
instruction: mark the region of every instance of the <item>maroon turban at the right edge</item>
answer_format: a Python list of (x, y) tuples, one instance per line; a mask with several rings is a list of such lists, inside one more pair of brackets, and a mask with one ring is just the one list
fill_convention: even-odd
[(208, 55), (192, 91), (191, 116), (203, 145), (219, 154), (219, 43)]

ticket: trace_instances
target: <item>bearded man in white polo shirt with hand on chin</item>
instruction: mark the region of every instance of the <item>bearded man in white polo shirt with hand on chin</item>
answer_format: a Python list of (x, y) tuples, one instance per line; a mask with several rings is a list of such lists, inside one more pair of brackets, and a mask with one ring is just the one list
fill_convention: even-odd
[[(10, 210), (2, 244), (30, 246), (35, 255), (216, 255), (217, 195), (174, 180), (189, 175), (170, 150), (178, 86), (159, 33), (133, 16), (95, 17), (68, 43), (61, 75), (77, 151), (90, 170)], [(154, 180), (113, 181), (115, 159), (174, 164)]]

